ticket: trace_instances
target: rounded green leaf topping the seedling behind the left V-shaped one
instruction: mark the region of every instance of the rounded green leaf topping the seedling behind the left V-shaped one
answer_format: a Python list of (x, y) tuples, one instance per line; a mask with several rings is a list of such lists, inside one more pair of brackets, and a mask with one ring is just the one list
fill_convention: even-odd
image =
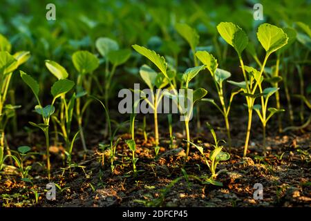
[(87, 50), (79, 50), (73, 54), (73, 65), (80, 74), (84, 75), (98, 68), (100, 60)]

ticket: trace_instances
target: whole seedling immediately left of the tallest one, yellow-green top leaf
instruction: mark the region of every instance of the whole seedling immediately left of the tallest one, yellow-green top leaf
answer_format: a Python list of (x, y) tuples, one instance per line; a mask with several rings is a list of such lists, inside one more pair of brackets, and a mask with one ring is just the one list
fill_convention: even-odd
[(232, 140), (231, 140), (231, 135), (230, 135), (230, 126), (229, 126), (229, 118), (228, 118), (229, 117), (229, 111), (230, 111), (230, 107), (231, 107), (232, 100), (233, 100), (234, 96), (237, 95), (238, 93), (240, 93), (241, 89), (240, 90), (233, 90), (231, 93), (230, 99), (229, 99), (229, 104), (226, 104), (225, 97), (223, 95), (224, 94), (223, 93), (223, 81), (225, 81), (226, 79), (231, 77), (231, 73), (229, 73), (227, 70), (217, 68), (218, 67), (217, 60), (214, 58), (213, 55), (209, 54), (209, 52), (207, 52), (207, 51), (197, 51), (196, 57), (198, 57), (198, 59), (202, 62), (202, 64), (205, 65), (205, 68), (207, 68), (207, 70), (209, 70), (209, 73), (211, 74), (211, 77), (214, 80), (214, 84), (215, 84), (216, 89), (217, 89), (220, 104), (221, 104), (221, 107), (223, 109), (220, 108), (220, 106), (218, 106), (218, 104), (216, 104), (214, 99), (203, 98), (202, 101), (211, 102), (211, 104), (216, 106), (216, 108), (218, 108), (220, 113), (222, 113), (223, 117), (225, 118), (225, 126), (227, 129), (227, 138), (228, 138), (229, 148), (231, 148)]

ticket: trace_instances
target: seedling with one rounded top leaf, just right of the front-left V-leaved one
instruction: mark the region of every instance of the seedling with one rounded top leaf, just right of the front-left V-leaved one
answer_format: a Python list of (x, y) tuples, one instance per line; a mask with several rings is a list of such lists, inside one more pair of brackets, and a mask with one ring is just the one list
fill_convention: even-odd
[[(82, 141), (82, 146), (84, 151), (86, 151), (86, 142), (84, 138), (84, 132), (82, 127), (82, 119), (83, 119), (83, 113), (86, 110), (86, 107), (88, 106), (89, 102), (85, 102), (85, 104), (82, 106), (81, 104), (81, 97), (83, 97), (86, 94), (91, 93), (91, 79), (93, 75), (93, 71), (98, 68), (100, 65), (100, 61), (97, 59), (95, 55), (93, 55), (91, 52), (88, 52), (86, 50), (79, 50), (73, 54), (73, 65), (75, 66), (75, 69), (78, 72), (77, 76), (77, 95), (76, 97), (76, 117), (77, 117), (77, 123), (79, 125), (79, 134)], [(88, 77), (87, 75), (91, 75), (91, 77)], [(84, 84), (85, 83), (85, 84)], [(84, 87), (86, 90), (84, 90)]]

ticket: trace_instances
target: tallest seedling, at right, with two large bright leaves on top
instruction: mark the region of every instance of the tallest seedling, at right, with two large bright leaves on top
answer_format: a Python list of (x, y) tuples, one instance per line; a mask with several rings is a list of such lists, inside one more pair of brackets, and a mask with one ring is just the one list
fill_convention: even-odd
[[(252, 68), (252, 71), (249, 72), (249, 76), (247, 76), (245, 65), (242, 59), (242, 52), (248, 44), (247, 35), (240, 27), (234, 25), (234, 23), (231, 22), (221, 22), (220, 24), (218, 24), (217, 30), (220, 36), (225, 39), (227, 44), (231, 45), (236, 50), (243, 72), (244, 81), (228, 82), (238, 86), (239, 88), (242, 88), (247, 102), (248, 124), (243, 153), (243, 156), (245, 157), (247, 154), (249, 135), (252, 127), (252, 111), (256, 97), (261, 97), (262, 106), (264, 106), (265, 104), (263, 97), (263, 88), (261, 86), (263, 81), (263, 70), (265, 68), (265, 64), (267, 63), (267, 59), (272, 54), (272, 52), (275, 52), (276, 50), (282, 48), (283, 46), (285, 46), (285, 44), (288, 43), (288, 37), (281, 28), (277, 28), (276, 26), (272, 26), (268, 23), (263, 23), (261, 26), (259, 26), (257, 37), (266, 51), (265, 59), (263, 60), (260, 71)], [(256, 71), (254, 71), (253, 69)], [(256, 93), (257, 88), (259, 88), (259, 93)]]

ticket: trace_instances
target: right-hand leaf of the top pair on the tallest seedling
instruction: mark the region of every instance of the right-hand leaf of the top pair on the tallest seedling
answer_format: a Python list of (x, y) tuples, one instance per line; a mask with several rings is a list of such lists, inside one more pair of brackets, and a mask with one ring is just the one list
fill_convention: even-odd
[(288, 44), (288, 36), (282, 28), (263, 23), (258, 28), (257, 37), (268, 55)]

